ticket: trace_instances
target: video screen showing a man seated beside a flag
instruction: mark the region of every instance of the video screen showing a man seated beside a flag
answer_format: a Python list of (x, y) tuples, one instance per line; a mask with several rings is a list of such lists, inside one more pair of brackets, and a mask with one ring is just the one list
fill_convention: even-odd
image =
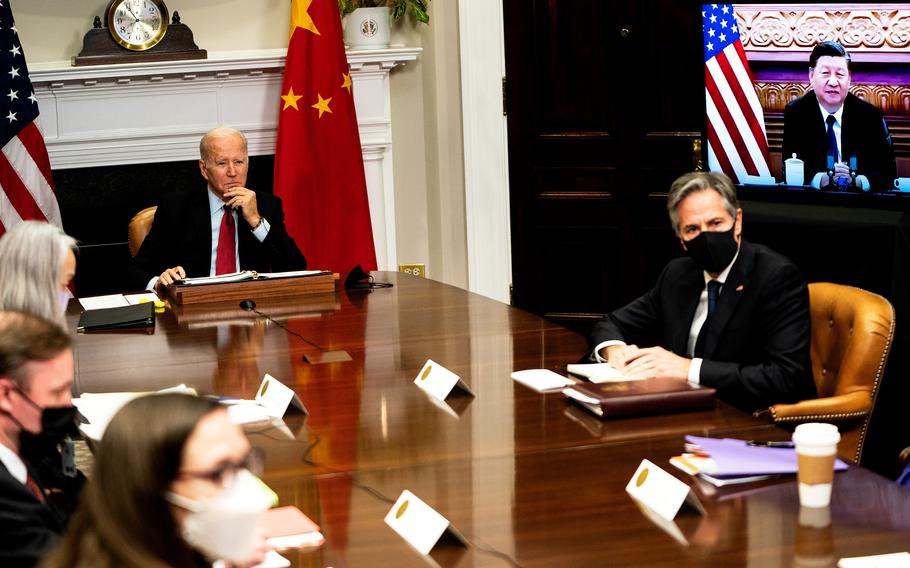
[(708, 168), (910, 194), (910, 4), (703, 4)]

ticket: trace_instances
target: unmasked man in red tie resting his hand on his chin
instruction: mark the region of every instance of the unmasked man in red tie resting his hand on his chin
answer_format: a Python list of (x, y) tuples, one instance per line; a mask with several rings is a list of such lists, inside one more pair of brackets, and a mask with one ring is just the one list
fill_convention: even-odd
[(285, 230), (281, 200), (245, 187), (249, 156), (243, 133), (211, 130), (202, 137), (199, 153), (208, 190), (162, 198), (130, 264), (128, 285), (153, 289), (237, 270), (305, 269), (306, 259)]

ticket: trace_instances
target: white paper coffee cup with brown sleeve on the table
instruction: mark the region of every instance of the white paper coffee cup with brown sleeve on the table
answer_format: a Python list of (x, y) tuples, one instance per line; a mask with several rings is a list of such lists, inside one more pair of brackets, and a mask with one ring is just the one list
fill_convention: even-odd
[(831, 503), (834, 460), (840, 433), (837, 426), (811, 422), (800, 424), (793, 432), (799, 481), (799, 504), (827, 507)]

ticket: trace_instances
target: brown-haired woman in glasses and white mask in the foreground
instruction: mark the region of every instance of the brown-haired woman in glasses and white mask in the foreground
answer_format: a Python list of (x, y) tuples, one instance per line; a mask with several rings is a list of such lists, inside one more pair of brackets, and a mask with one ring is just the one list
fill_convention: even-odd
[(217, 402), (161, 394), (111, 420), (92, 479), (59, 547), (42, 567), (252, 566), (270, 497), (250, 473), (250, 444)]

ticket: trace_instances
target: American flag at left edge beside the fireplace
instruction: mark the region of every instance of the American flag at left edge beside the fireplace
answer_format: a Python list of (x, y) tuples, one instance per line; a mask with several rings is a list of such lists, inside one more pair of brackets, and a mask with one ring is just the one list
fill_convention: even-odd
[(0, 235), (24, 219), (61, 226), (38, 99), (9, 1), (0, 1)]

